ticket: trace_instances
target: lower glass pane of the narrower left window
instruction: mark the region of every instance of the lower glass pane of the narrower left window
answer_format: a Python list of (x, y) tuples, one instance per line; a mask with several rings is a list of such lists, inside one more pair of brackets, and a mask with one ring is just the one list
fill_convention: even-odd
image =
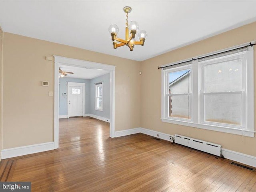
[(170, 117), (190, 119), (189, 95), (172, 95), (168, 99)]

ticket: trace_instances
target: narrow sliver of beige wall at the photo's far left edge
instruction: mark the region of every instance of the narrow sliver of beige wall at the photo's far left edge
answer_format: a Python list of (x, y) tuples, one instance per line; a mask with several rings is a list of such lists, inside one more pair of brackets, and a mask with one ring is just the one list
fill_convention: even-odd
[[(2, 110), (1, 110), (1, 97), (2, 97), (2, 52), (3, 52), (3, 31), (0, 26), (0, 151), (2, 150)], [(1, 161), (0, 153), (0, 161)]]

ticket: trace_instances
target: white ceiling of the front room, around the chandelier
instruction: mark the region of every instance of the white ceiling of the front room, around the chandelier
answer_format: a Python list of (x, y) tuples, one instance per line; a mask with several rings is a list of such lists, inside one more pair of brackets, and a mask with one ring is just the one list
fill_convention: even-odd
[[(148, 32), (144, 46), (130, 52), (112, 47), (108, 26), (124, 38), (126, 14)], [(20, 34), (96, 52), (146, 60), (178, 47), (256, 21), (256, 1), (0, 1), (0, 26)]]

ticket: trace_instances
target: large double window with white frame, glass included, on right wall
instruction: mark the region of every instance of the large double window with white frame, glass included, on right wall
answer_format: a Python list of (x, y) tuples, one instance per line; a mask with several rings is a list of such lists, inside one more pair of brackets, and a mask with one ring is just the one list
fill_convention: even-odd
[(164, 67), (162, 121), (253, 137), (253, 48)]

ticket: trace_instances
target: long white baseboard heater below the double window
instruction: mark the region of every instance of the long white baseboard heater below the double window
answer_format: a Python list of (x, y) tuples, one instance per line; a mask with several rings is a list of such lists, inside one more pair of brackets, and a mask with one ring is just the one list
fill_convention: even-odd
[(175, 134), (175, 143), (220, 157), (221, 145)]

